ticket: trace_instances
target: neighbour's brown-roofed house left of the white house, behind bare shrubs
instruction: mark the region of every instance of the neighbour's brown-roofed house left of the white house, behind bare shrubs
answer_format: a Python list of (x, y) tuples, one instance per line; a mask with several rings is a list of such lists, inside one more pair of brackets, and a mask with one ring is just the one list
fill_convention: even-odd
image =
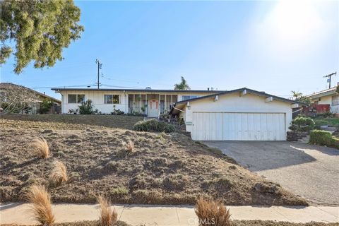
[[(12, 95), (12, 97), (8, 97), (8, 95)], [(27, 98), (33, 98), (33, 100), (30, 101), (32, 102), (32, 106), (28, 112), (26, 112), (28, 114), (38, 114), (40, 112), (42, 102), (46, 99), (52, 102), (52, 107), (50, 107), (49, 111), (47, 112), (48, 114), (59, 114), (61, 111), (61, 100), (58, 100), (57, 98), (46, 95), (45, 93), (37, 92), (36, 90), (32, 90), (23, 85), (17, 85), (14, 83), (0, 83), (1, 102), (13, 101), (13, 99), (18, 99), (14, 100), (14, 102), (20, 102), (20, 99), (23, 98), (23, 96)], [(9, 98), (10, 100), (6, 101), (6, 98)]]

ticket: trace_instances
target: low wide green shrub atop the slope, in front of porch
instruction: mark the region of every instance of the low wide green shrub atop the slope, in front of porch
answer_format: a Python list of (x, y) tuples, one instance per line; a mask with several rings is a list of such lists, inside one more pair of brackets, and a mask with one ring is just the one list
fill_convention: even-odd
[(146, 121), (138, 121), (133, 126), (135, 131), (146, 131), (146, 132), (165, 132), (172, 133), (175, 131), (175, 127), (171, 124), (167, 124), (164, 121), (157, 121), (157, 119), (150, 119)]

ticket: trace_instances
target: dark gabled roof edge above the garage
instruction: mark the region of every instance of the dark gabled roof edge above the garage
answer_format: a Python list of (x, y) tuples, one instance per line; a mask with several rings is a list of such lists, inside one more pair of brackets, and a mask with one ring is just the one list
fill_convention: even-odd
[(209, 97), (214, 97), (216, 95), (225, 95), (225, 94), (229, 94), (229, 93), (242, 92), (243, 90), (248, 90), (249, 93), (255, 93), (255, 94), (263, 95), (263, 96), (266, 96), (266, 97), (273, 97), (273, 99), (275, 99), (275, 100), (281, 100), (281, 101), (285, 101), (285, 102), (292, 102), (292, 103), (295, 103), (295, 104), (305, 105), (305, 106), (307, 105), (304, 102), (290, 100), (290, 99), (286, 99), (284, 97), (278, 97), (276, 95), (270, 95), (268, 93), (263, 93), (263, 92), (259, 92), (259, 91), (256, 91), (256, 90), (251, 90), (251, 89), (246, 88), (246, 87), (239, 88), (239, 89), (236, 89), (236, 90), (230, 90), (230, 91), (225, 91), (225, 92), (221, 92), (221, 93), (215, 93), (215, 94), (211, 94), (211, 95), (206, 95), (206, 96), (202, 96), (202, 97), (196, 97), (196, 98), (192, 98), (192, 99), (189, 99), (189, 100), (178, 101), (178, 102), (175, 102), (175, 105), (177, 105), (177, 104), (184, 104), (186, 102), (201, 100), (201, 99), (205, 99), (205, 98), (209, 98)]

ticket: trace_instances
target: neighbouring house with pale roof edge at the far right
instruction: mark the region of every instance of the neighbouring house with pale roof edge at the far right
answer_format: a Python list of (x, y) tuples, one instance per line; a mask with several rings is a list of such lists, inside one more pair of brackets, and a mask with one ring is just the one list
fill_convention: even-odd
[(316, 105), (329, 105), (331, 112), (339, 113), (339, 95), (336, 90), (337, 87), (333, 87), (313, 93), (311, 95), (307, 95), (307, 97), (311, 99), (311, 103)]

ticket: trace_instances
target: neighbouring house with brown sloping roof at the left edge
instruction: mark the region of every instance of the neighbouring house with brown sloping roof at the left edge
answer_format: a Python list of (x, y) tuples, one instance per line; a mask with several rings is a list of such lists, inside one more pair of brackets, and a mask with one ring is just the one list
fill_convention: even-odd
[(61, 100), (58, 100), (54, 97), (50, 97), (49, 95), (46, 95), (45, 93), (40, 93), (37, 92), (35, 90), (32, 90), (30, 88), (27, 88), (23, 85), (16, 85), (13, 83), (0, 83), (0, 94), (6, 92), (7, 89), (11, 89), (14, 92), (17, 92), (17, 97), (20, 97), (20, 94), (24, 94), (24, 93), (32, 93), (31, 96), (34, 97), (34, 100), (32, 102), (33, 105), (31, 107), (31, 109), (27, 112), (28, 114), (37, 114), (39, 113), (40, 110), (40, 105), (41, 103), (45, 100), (45, 99), (49, 99), (52, 101), (53, 105), (52, 107), (49, 109), (49, 114), (57, 114), (61, 112), (60, 106), (61, 106)]

